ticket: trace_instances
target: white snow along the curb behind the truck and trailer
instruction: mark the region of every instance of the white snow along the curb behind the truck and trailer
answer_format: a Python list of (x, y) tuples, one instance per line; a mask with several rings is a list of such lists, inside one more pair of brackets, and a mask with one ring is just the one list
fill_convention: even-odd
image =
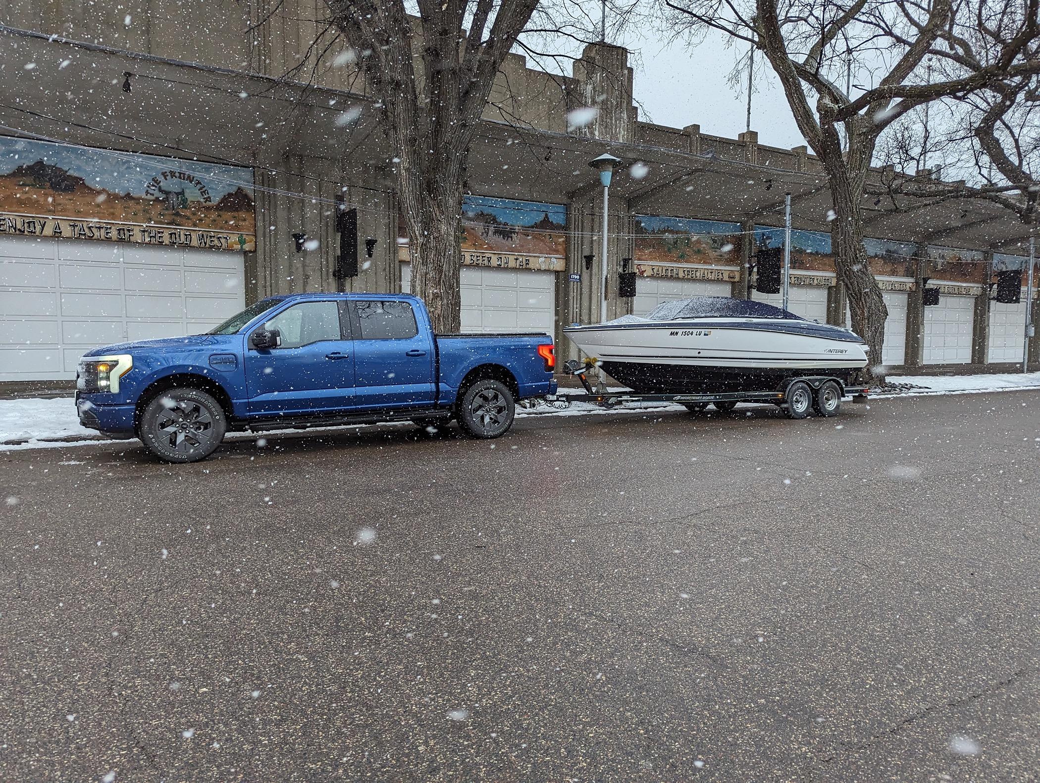
[[(892, 384), (907, 384), (918, 388), (910, 392), (879, 394), (878, 397), (1040, 389), (1040, 372), (1005, 372), (992, 375), (889, 375), (888, 381)], [(575, 394), (578, 393), (578, 390), (563, 389), (561, 393)], [(575, 402), (569, 408), (564, 408), (563, 403), (550, 403), (535, 409), (518, 408), (517, 416), (589, 416), (605, 413), (681, 410), (683, 410), (681, 406), (666, 402), (646, 402), (612, 411), (606, 411), (590, 402)], [(256, 434), (240, 437), (256, 437)], [(90, 438), (97, 439), (99, 434), (79, 425), (76, 406), (72, 397), (0, 399), (0, 450), (34, 448), (53, 441), (81, 441)]]

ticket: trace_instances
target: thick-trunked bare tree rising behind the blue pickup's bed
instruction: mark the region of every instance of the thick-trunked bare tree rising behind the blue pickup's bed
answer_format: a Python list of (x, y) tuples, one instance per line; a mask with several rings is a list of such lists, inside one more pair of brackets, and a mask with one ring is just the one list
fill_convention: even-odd
[(394, 150), (412, 290), (459, 331), (459, 236), (469, 146), (498, 69), (539, 0), (328, 0), (359, 56)]

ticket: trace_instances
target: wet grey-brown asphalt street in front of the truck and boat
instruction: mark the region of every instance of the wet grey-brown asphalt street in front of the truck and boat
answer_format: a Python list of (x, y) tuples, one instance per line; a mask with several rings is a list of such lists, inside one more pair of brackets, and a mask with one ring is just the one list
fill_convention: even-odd
[(1038, 408), (2, 452), (0, 781), (1036, 781)]

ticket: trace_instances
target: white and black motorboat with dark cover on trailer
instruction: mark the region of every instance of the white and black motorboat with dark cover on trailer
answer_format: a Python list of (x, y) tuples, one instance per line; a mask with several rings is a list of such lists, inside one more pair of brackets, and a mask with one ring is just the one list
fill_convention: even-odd
[(728, 296), (666, 302), (645, 318), (564, 334), (608, 375), (645, 394), (781, 388), (810, 375), (850, 386), (867, 363), (865, 343), (847, 329)]

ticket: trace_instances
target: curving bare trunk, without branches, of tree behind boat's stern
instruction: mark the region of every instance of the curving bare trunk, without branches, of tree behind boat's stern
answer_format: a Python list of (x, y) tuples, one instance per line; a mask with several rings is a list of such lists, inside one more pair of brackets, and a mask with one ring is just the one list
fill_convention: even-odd
[(878, 281), (870, 273), (870, 266), (863, 246), (863, 216), (860, 208), (862, 185), (850, 182), (846, 163), (827, 165), (833, 201), (834, 221), (831, 224), (831, 241), (838, 279), (844, 284), (852, 312), (853, 331), (869, 346), (867, 370), (870, 377), (884, 381), (885, 368), (882, 351), (885, 342), (885, 320), (888, 308), (881, 295)]

